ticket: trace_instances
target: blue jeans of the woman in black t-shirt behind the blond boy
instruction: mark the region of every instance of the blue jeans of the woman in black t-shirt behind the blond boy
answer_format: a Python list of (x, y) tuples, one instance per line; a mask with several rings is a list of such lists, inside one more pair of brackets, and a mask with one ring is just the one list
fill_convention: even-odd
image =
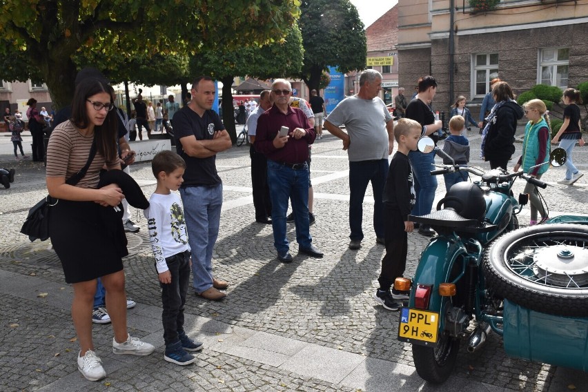
[(423, 154), (420, 151), (409, 153), (415, 182), (416, 200), (411, 215), (421, 216), (431, 213), (435, 190), (437, 189), (437, 177), (431, 175), (435, 167), (435, 154)]

